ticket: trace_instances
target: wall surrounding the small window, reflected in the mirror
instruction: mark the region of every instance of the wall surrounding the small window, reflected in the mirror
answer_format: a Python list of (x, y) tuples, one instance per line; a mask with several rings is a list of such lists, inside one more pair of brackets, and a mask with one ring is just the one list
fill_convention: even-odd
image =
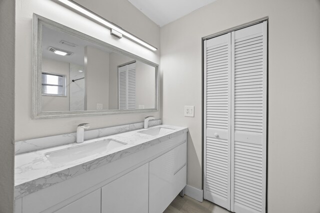
[(69, 63), (48, 58), (42, 58), (41, 70), (66, 76), (66, 97), (41, 95), (41, 111), (68, 111), (69, 110)]

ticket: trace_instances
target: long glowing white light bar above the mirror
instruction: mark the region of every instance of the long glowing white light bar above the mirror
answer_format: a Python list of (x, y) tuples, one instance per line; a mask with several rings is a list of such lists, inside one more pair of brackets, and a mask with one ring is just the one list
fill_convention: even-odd
[(124, 29), (122, 29), (121, 27), (115, 25), (114, 23), (112, 22), (109, 22), (108, 20), (100, 17), (99, 15), (95, 14), (94, 12), (82, 7), (81, 5), (77, 4), (76, 2), (74, 2), (73, 0), (58, 0), (59, 2), (63, 3), (64, 5), (67, 5), (73, 9), (75, 9), (76, 11), (96, 20), (97, 22), (105, 25), (106, 27), (110, 28), (110, 29), (114, 29), (116, 30), (117, 32), (121, 33), (123, 36), (129, 38), (130, 40), (142, 45), (142, 46), (145, 46), (146, 48), (150, 49), (150, 50), (157, 50), (156, 47), (148, 44), (147, 42), (141, 40), (140, 38), (132, 35), (131, 33), (125, 31)]

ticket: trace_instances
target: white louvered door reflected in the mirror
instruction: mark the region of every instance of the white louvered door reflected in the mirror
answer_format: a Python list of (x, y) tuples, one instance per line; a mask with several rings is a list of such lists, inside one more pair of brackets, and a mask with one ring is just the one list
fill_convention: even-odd
[(135, 109), (135, 61), (118, 67), (119, 109)]

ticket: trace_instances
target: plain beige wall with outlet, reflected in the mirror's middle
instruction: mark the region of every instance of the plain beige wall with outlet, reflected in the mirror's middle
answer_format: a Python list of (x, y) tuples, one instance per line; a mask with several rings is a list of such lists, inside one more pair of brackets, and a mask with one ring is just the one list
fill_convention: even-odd
[(102, 109), (109, 109), (109, 53), (92, 46), (84, 48), (85, 98), (84, 109), (96, 110), (97, 104)]

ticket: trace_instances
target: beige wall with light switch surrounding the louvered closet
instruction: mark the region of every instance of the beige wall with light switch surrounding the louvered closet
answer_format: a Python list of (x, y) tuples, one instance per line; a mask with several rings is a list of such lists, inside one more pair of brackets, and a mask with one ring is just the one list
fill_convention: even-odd
[[(201, 189), (201, 37), (264, 16), (268, 212), (319, 213), (319, 0), (217, 0), (161, 27), (163, 123), (189, 128), (187, 184)], [(183, 116), (184, 105), (194, 105), (194, 118)]]

